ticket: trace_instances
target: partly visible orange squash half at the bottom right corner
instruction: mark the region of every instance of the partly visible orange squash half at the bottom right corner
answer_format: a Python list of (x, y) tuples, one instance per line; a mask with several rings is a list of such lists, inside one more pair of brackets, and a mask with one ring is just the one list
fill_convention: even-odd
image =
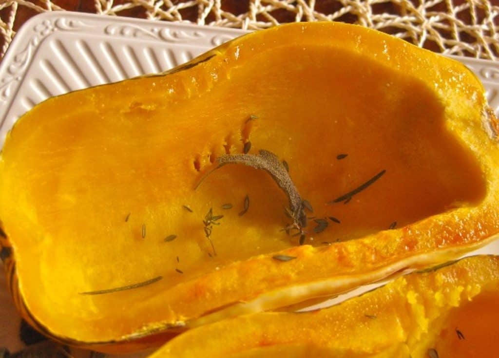
[[(494, 357), (499, 257), (415, 273), (306, 313), (257, 313), (187, 332), (150, 358)], [(436, 356), (435, 356), (436, 357)]]

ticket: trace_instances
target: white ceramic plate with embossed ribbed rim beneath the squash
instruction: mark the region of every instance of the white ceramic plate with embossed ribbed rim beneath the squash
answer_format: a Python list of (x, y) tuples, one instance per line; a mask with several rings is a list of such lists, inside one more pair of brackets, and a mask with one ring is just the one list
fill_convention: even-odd
[[(37, 15), (17, 32), (0, 64), (0, 146), (17, 118), (48, 97), (165, 71), (246, 32), (77, 12)], [(499, 62), (454, 58), (482, 80), (489, 103), (499, 114)], [(499, 242), (479, 252), (499, 254)], [(0, 274), (0, 347), (12, 352), (22, 348), (19, 317), (4, 281)], [(379, 284), (352, 294), (374, 286)], [(328, 304), (344, 299), (345, 295)]]

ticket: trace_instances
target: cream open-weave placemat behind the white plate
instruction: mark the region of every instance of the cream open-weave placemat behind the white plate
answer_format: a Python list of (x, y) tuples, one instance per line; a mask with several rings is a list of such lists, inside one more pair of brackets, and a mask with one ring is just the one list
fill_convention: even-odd
[(0, 0), (0, 57), (20, 24), (53, 10), (243, 29), (342, 21), (436, 52), (499, 59), (499, 0)]

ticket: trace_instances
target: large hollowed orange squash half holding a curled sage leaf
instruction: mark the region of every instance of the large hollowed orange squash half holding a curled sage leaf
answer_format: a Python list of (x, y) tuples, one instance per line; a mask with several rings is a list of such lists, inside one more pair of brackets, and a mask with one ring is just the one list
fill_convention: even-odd
[(499, 232), (498, 128), (462, 64), (340, 23), (51, 98), (1, 154), (10, 290), (124, 351), (443, 262)]

